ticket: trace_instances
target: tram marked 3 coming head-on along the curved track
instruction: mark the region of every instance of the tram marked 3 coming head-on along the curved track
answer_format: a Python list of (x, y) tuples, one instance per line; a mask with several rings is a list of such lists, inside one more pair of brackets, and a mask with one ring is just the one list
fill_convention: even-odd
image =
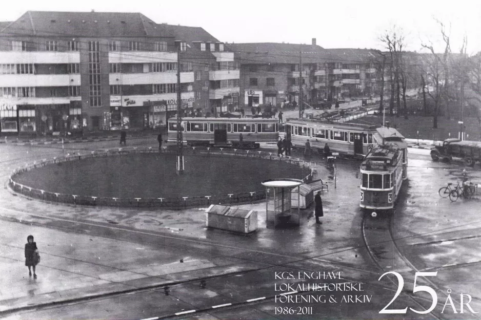
[(393, 209), (407, 179), (407, 144), (395, 129), (381, 127), (374, 135), (377, 146), (360, 165), (359, 206), (372, 210)]

